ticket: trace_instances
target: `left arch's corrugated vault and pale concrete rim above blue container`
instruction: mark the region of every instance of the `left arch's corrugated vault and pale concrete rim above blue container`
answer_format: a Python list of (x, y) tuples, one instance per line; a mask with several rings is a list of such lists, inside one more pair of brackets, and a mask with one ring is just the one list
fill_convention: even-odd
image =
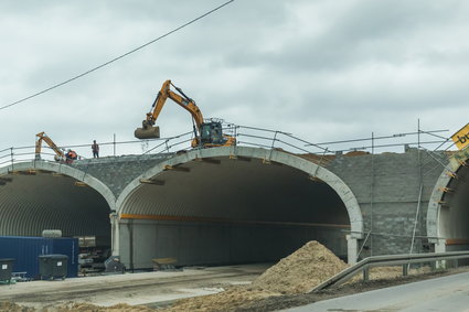
[[(28, 174), (30, 171), (35, 174)], [(58, 174), (56, 174), (58, 173)], [(0, 235), (38, 236), (46, 228), (65, 236), (110, 236), (115, 196), (97, 179), (72, 166), (32, 161), (0, 169)], [(89, 187), (77, 187), (76, 181)]]

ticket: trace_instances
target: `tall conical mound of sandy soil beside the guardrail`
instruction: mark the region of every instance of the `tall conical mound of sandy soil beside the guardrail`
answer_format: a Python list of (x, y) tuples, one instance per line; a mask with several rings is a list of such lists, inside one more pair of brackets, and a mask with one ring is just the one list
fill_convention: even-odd
[(305, 293), (348, 267), (316, 240), (267, 269), (253, 287), (284, 294)]

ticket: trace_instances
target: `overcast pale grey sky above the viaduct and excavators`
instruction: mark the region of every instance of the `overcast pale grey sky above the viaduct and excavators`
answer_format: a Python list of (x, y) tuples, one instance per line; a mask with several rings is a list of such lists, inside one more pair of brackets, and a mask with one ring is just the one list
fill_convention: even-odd
[[(224, 0), (0, 1), (0, 106), (100, 65)], [(166, 79), (204, 117), (323, 142), (469, 120), (469, 2), (235, 0), (107, 67), (0, 110), (0, 150), (132, 140)], [(162, 137), (190, 131), (167, 103)]]

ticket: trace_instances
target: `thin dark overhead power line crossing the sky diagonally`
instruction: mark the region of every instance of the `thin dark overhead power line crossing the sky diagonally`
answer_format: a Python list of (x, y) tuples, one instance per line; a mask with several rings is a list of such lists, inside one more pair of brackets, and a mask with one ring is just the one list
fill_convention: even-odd
[(39, 93), (35, 93), (35, 94), (33, 94), (33, 95), (26, 96), (26, 97), (24, 97), (24, 98), (22, 98), (22, 99), (19, 99), (19, 100), (17, 100), (17, 101), (13, 101), (13, 103), (7, 104), (7, 105), (4, 105), (4, 106), (1, 106), (1, 107), (0, 107), (0, 110), (6, 109), (6, 108), (9, 108), (9, 107), (12, 107), (12, 106), (14, 106), (14, 105), (17, 105), (17, 104), (23, 103), (23, 101), (25, 101), (25, 100), (29, 100), (29, 99), (31, 99), (31, 98), (33, 98), (33, 97), (36, 97), (36, 96), (40, 96), (40, 95), (42, 95), (42, 94), (45, 94), (45, 93), (47, 93), (47, 92), (50, 92), (50, 90), (53, 90), (53, 89), (58, 88), (58, 87), (61, 87), (61, 86), (63, 86), (63, 85), (66, 85), (66, 84), (68, 84), (68, 83), (71, 83), (71, 82), (73, 82), (73, 80), (76, 80), (76, 79), (78, 79), (78, 78), (82, 78), (83, 76), (86, 76), (86, 75), (88, 75), (88, 74), (90, 74), (90, 73), (93, 73), (93, 72), (96, 72), (97, 69), (100, 69), (100, 68), (103, 68), (103, 67), (105, 67), (105, 66), (107, 66), (107, 65), (109, 65), (109, 64), (111, 64), (111, 63), (114, 63), (114, 62), (117, 62), (117, 61), (119, 61), (119, 60), (121, 60), (121, 58), (124, 58), (124, 57), (126, 57), (126, 56), (128, 56), (128, 55), (130, 55), (130, 54), (132, 54), (132, 53), (135, 53), (135, 52), (137, 52), (137, 51), (139, 51), (139, 50), (141, 50), (141, 49), (143, 49), (143, 47), (147, 47), (148, 45), (150, 45), (150, 44), (152, 44), (152, 43), (154, 43), (154, 42), (157, 42), (157, 41), (159, 41), (159, 40), (161, 40), (161, 39), (163, 39), (163, 37), (166, 37), (166, 36), (169, 36), (169, 35), (170, 35), (170, 34), (172, 34), (172, 33), (175, 33), (177, 31), (180, 31), (181, 29), (183, 29), (183, 28), (185, 28), (185, 26), (189, 26), (190, 24), (192, 24), (192, 23), (194, 23), (194, 22), (196, 22), (196, 21), (199, 21), (199, 20), (201, 20), (201, 19), (205, 18), (206, 15), (210, 15), (211, 13), (213, 13), (213, 12), (215, 12), (215, 11), (217, 11), (217, 10), (222, 9), (223, 7), (225, 7), (225, 6), (230, 4), (230, 3), (231, 3), (231, 2), (233, 2), (233, 1), (234, 1), (234, 0), (226, 1), (225, 3), (223, 3), (223, 4), (218, 6), (218, 7), (216, 7), (216, 8), (212, 9), (212, 10), (210, 10), (210, 11), (205, 12), (205, 13), (203, 13), (202, 15), (199, 15), (198, 18), (195, 18), (195, 19), (193, 19), (193, 20), (190, 20), (189, 22), (186, 22), (186, 23), (184, 23), (184, 24), (182, 24), (182, 25), (180, 25), (180, 26), (178, 26), (178, 28), (175, 28), (175, 29), (173, 29), (173, 30), (171, 30), (171, 31), (169, 31), (169, 32), (167, 32), (167, 33), (164, 33), (164, 34), (160, 35), (159, 37), (156, 37), (156, 39), (153, 39), (153, 40), (151, 40), (151, 41), (149, 41), (149, 42), (147, 42), (147, 43), (145, 43), (145, 44), (142, 44), (142, 45), (140, 45), (140, 46), (138, 46), (138, 47), (136, 47), (136, 49), (134, 49), (134, 50), (129, 51), (129, 52), (127, 52), (127, 53), (124, 53), (124, 54), (121, 54), (121, 55), (119, 55), (119, 56), (117, 56), (117, 57), (115, 57), (115, 58), (113, 58), (113, 60), (110, 60), (110, 61), (108, 61), (108, 62), (106, 62), (106, 63), (103, 63), (102, 65), (98, 65), (98, 66), (96, 66), (96, 67), (93, 67), (93, 68), (90, 68), (90, 69), (88, 69), (88, 71), (86, 71), (86, 72), (84, 72), (84, 73), (82, 73), (82, 74), (79, 74), (79, 75), (76, 75), (76, 76), (74, 76), (74, 77), (72, 77), (72, 78), (68, 78), (68, 79), (66, 79), (66, 80), (62, 82), (62, 83), (58, 83), (58, 84), (53, 85), (53, 86), (51, 86), (51, 87), (49, 87), (49, 88), (45, 88), (45, 89), (43, 89), (43, 90), (41, 90), (41, 92), (39, 92)]

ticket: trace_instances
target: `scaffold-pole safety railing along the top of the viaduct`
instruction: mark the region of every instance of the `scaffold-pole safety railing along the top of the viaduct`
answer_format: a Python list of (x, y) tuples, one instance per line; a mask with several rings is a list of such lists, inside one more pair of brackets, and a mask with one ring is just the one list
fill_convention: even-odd
[[(300, 139), (291, 133), (263, 129), (248, 126), (236, 126), (233, 123), (224, 123), (224, 133), (236, 138), (237, 146), (258, 147), (265, 149), (281, 149), (291, 153), (313, 153), (319, 155), (342, 153), (349, 151), (365, 151), (374, 153), (375, 151), (396, 151), (402, 147), (425, 147), (426, 150), (449, 149), (452, 144), (448, 138), (438, 133), (448, 130), (433, 130), (417, 132), (397, 133), (392, 136), (374, 137), (331, 141), (322, 143), (313, 143)], [(174, 137), (148, 139), (148, 140), (130, 140), (130, 141), (111, 141), (99, 142), (102, 157), (117, 155), (148, 155), (160, 153), (175, 153), (181, 150), (190, 150), (191, 141), (194, 135), (192, 131), (184, 132)], [(405, 138), (412, 137), (409, 140)], [(431, 139), (428, 139), (431, 137)], [(361, 146), (360, 146), (361, 144)], [(68, 149), (75, 150), (81, 159), (92, 157), (90, 143), (58, 146), (64, 151)], [(436, 147), (436, 148), (435, 148)], [(117, 152), (119, 150), (119, 153)], [(43, 144), (41, 159), (54, 160), (54, 151), (46, 144)], [(30, 161), (35, 159), (35, 147), (11, 147), (0, 150), (0, 166), (13, 164), (15, 162)]]

